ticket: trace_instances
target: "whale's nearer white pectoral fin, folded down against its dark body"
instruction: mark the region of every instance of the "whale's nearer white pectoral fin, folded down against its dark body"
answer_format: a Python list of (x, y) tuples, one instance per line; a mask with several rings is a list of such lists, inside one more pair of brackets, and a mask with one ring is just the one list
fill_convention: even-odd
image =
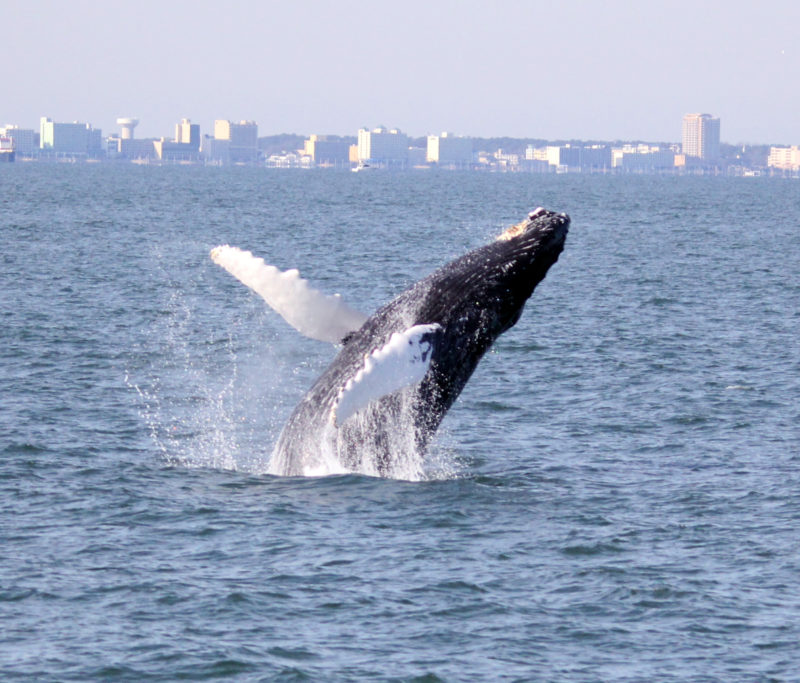
[(381, 396), (422, 381), (442, 327), (415, 325), (395, 332), (389, 341), (364, 358), (364, 366), (341, 389), (331, 410), (337, 427)]

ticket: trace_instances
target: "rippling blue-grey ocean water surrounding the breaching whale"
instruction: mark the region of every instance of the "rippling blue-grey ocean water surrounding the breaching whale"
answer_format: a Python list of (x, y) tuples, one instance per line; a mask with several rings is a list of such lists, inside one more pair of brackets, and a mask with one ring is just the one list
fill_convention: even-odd
[[(270, 476), (371, 312), (536, 206), (559, 262), (415, 481)], [(800, 186), (0, 167), (0, 679), (800, 680)]]

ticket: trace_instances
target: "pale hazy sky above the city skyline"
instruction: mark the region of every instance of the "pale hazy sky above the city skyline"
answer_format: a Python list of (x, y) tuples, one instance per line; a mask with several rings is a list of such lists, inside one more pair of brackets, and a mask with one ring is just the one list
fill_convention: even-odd
[(0, 124), (800, 143), (800, 2), (2, 0)]

